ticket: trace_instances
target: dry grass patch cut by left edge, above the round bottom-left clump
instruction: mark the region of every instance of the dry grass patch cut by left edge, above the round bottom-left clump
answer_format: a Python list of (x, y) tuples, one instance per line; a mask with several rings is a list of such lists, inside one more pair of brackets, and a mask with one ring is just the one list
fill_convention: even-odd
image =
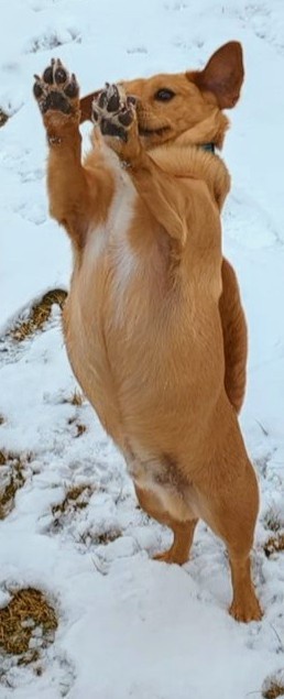
[(24, 485), (25, 467), (31, 455), (0, 451), (0, 520), (4, 520), (14, 506), (15, 493)]

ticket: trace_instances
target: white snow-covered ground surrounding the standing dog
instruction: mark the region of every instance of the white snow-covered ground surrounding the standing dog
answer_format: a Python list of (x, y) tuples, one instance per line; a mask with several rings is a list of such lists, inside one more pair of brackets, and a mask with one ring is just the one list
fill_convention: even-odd
[[(33, 586), (59, 620), (42, 675), (2, 659), (0, 697), (261, 696), (265, 678), (284, 667), (284, 555), (267, 558), (263, 549), (271, 526), (284, 532), (283, 0), (0, 6), (0, 107), (11, 114), (0, 129), (1, 334), (43, 292), (67, 288), (70, 271), (67, 237), (47, 214), (33, 74), (59, 56), (84, 95), (105, 80), (201, 66), (230, 39), (243, 44), (245, 86), (223, 150), (233, 178), (223, 247), (250, 330), (241, 423), (261, 481), (253, 571), (264, 609), (261, 623), (228, 615), (228, 561), (204, 525), (190, 563), (151, 560), (170, 533), (138, 509), (123, 461), (89, 405), (73, 405), (55, 308), (44, 332), (0, 345), (0, 450), (26, 457), (25, 483), (0, 524), (0, 605)], [(61, 513), (56, 505), (77, 485), (88, 487), (86, 506), (69, 501)]]

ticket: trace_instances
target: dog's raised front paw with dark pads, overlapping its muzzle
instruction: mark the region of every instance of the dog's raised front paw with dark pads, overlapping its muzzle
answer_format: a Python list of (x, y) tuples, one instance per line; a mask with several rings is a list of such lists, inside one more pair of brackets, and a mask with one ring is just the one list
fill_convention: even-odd
[(106, 83), (92, 100), (91, 116), (103, 135), (117, 136), (127, 143), (135, 121), (135, 98), (125, 96), (121, 85)]

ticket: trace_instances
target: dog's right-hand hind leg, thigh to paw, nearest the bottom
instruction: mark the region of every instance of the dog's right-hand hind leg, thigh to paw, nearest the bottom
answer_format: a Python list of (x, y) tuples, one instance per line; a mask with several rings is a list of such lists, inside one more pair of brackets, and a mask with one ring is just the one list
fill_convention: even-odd
[[(232, 417), (237, 421), (234, 415)], [(230, 613), (237, 621), (259, 621), (262, 612), (250, 564), (259, 488), (236, 422), (230, 425), (226, 445), (194, 484), (200, 517), (223, 539), (228, 549), (233, 588)]]

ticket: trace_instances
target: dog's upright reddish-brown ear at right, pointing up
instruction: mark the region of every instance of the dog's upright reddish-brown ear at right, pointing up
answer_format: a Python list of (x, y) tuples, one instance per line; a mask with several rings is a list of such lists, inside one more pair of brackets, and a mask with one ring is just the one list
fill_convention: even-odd
[(243, 83), (242, 47), (230, 41), (214, 53), (204, 70), (188, 74), (203, 91), (214, 92), (220, 109), (231, 109), (240, 97)]

